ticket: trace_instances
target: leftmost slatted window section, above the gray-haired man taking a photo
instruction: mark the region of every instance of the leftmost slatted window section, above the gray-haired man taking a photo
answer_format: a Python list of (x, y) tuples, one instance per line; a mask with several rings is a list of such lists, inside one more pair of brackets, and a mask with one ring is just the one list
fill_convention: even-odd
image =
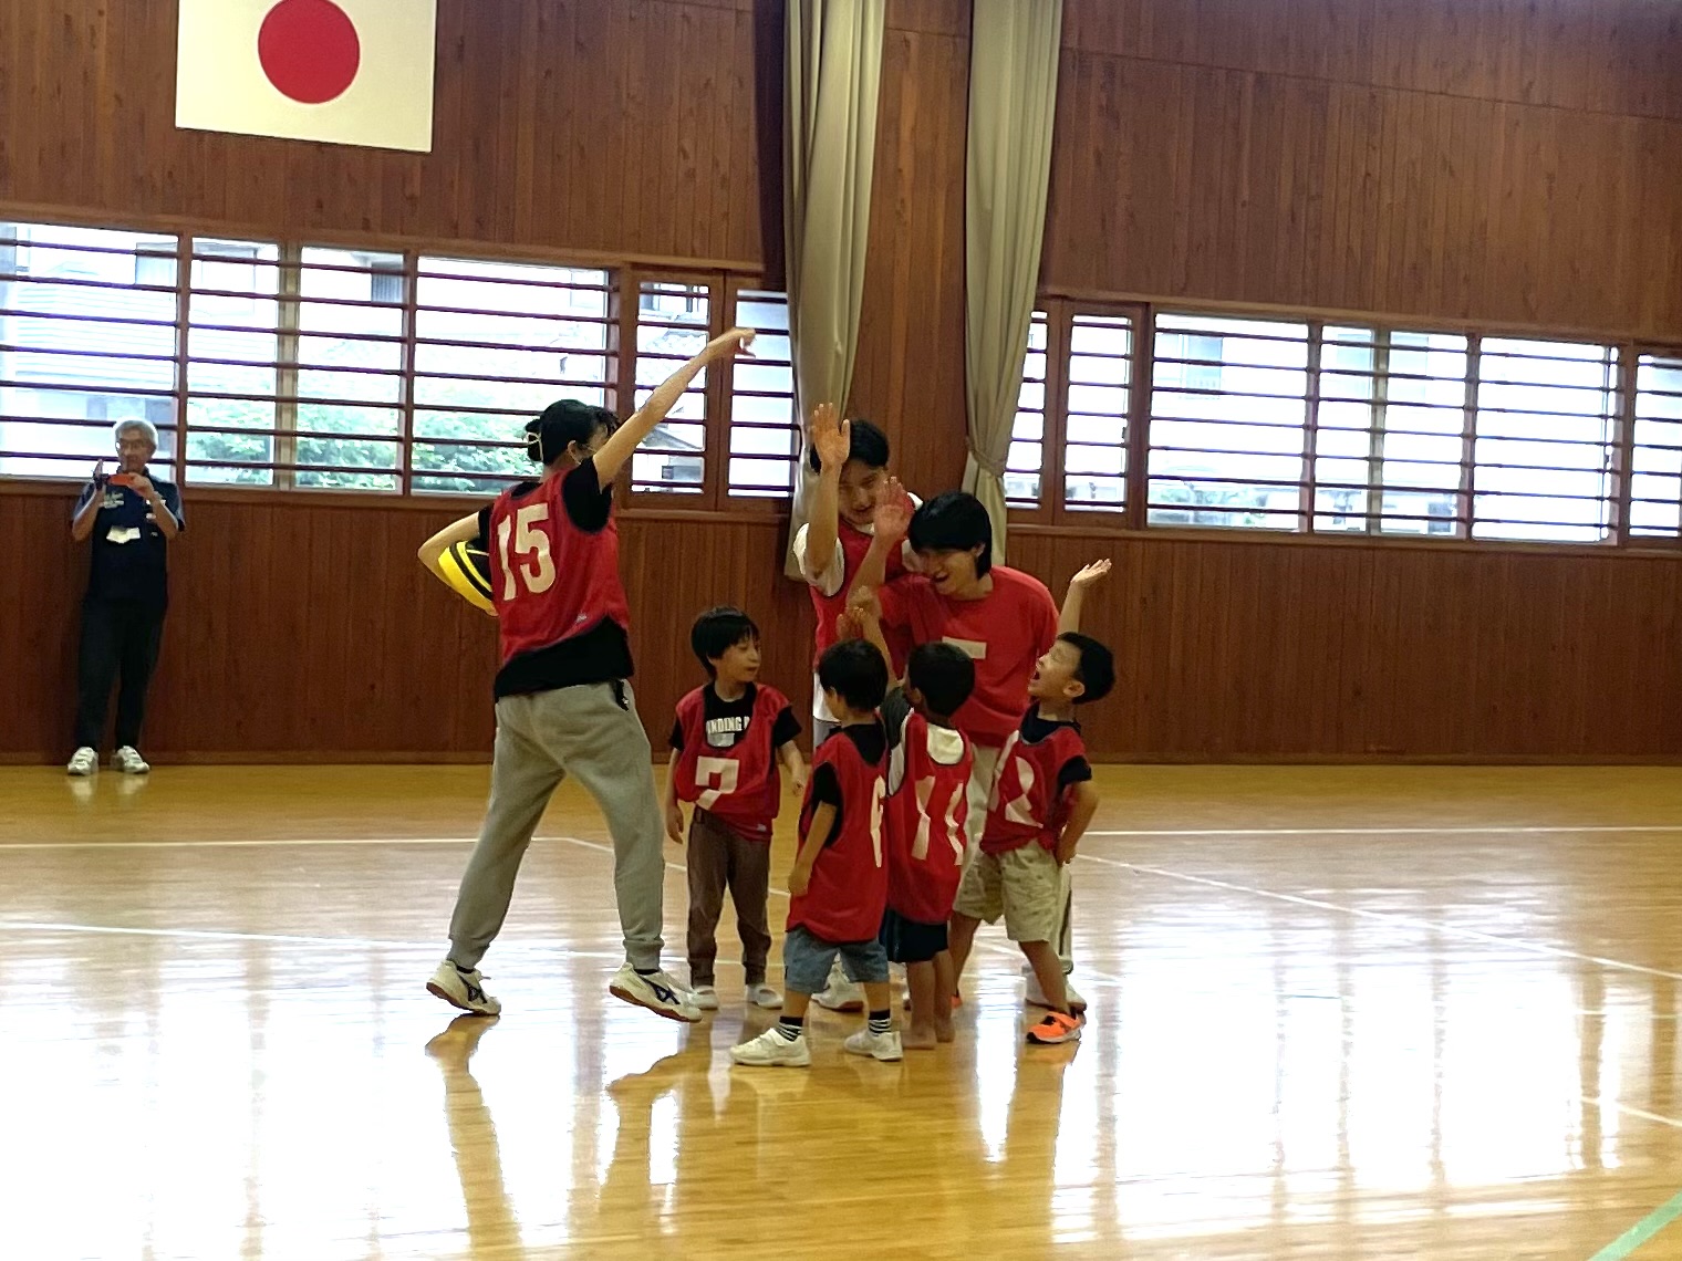
[(0, 474), (82, 477), (118, 420), (172, 459), (177, 239), (0, 222)]

